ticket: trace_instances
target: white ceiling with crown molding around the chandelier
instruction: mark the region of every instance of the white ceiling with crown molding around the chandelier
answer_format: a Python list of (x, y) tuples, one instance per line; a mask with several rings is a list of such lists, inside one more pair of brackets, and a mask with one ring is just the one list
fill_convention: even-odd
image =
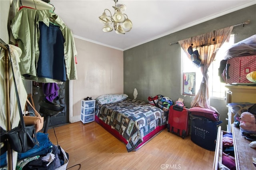
[[(102, 32), (104, 9), (114, 12), (113, 0), (51, 0), (55, 13), (74, 37), (126, 50), (224, 14), (256, 4), (256, 0), (118, 0), (133, 28), (125, 35)], [(240, 23), (237, 23), (240, 24)]]

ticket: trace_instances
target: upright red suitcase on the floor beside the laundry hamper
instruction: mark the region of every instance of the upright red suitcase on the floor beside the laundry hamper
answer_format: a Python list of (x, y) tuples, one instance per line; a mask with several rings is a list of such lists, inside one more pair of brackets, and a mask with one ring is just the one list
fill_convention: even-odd
[(180, 106), (170, 106), (168, 115), (168, 132), (185, 138), (188, 136), (188, 109)]

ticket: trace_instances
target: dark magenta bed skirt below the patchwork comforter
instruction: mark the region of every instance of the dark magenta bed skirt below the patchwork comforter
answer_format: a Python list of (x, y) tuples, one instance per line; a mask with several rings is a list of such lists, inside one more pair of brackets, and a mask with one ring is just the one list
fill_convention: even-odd
[[(120, 140), (121, 142), (124, 142), (125, 144), (128, 144), (128, 142), (126, 141), (126, 139), (119, 134), (119, 132), (115, 129), (112, 129), (110, 125), (107, 125), (106, 123), (104, 123), (102, 120), (100, 120), (96, 115), (95, 115), (95, 122), (97, 122), (99, 125), (101, 125), (104, 129), (106, 129), (108, 132), (110, 132), (113, 136), (115, 136), (118, 140)], [(155, 130), (153, 130), (152, 132), (150, 132), (149, 134), (147, 134), (146, 136), (143, 137), (143, 142), (140, 143), (136, 150), (138, 150), (143, 144), (145, 144), (146, 142), (148, 142), (151, 138), (153, 138), (156, 134), (158, 134), (159, 132), (161, 132), (162, 130), (164, 130), (167, 127), (167, 125), (163, 125), (163, 126), (158, 126), (156, 127)]]

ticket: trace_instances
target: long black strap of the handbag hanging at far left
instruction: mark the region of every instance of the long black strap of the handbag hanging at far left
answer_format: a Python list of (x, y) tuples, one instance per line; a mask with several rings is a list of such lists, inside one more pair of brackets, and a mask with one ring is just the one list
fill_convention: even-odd
[(12, 58), (11, 58), (11, 53), (10, 53), (10, 46), (7, 45), (7, 49), (9, 52), (9, 56), (10, 56), (10, 63), (11, 63), (11, 68), (12, 68), (12, 77), (13, 77), (13, 81), (14, 81), (14, 87), (15, 87), (15, 93), (16, 93), (16, 98), (17, 98), (17, 105), (18, 105), (18, 109), (19, 109), (19, 113), (20, 113), (20, 124), (22, 129), (24, 130), (24, 132), (26, 132), (26, 126), (25, 126), (25, 122), (23, 119), (23, 115), (22, 115), (22, 109), (21, 109), (21, 105), (20, 105), (20, 97), (18, 95), (18, 89), (17, 89), (17, 85), (16, 85), (16, 81), (15, 81), (15, 75), (14, 75), (14, 71), (13, 71), (13, 65), (12, 65)]

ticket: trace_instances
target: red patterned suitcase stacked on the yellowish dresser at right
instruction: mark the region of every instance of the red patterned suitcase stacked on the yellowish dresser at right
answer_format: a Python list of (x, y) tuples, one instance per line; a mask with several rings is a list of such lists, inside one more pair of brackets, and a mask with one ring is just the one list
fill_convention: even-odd
[(256, 55), (230, 58), (226, 66), (227, 83), (252, 83), (246, 79), (252, 71), (256, 71)]

